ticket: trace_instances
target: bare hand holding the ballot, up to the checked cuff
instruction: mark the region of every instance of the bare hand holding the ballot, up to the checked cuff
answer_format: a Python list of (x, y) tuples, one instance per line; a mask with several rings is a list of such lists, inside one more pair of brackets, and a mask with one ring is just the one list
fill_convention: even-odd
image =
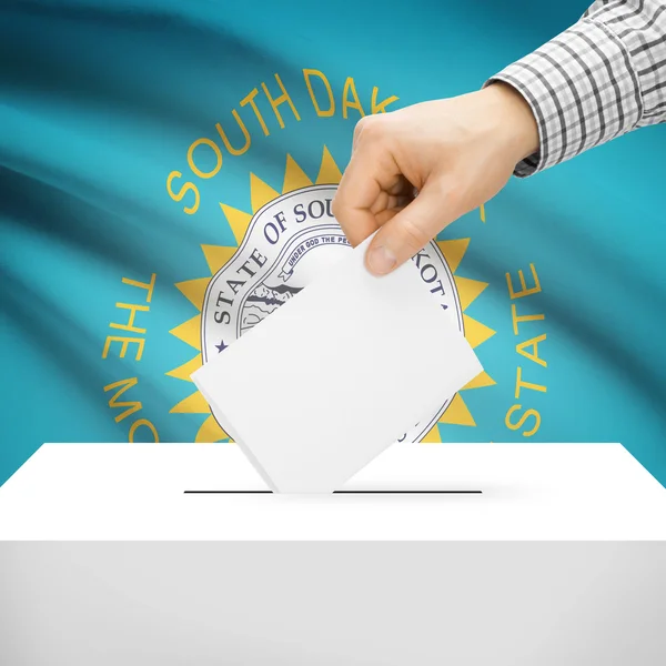
[(505, 83), (369, 115), (354, 131), (333, 213), (352, 245), (381, 228), (366, 265), (390, 273), (492, 199), (537, 149), (532, 110)]

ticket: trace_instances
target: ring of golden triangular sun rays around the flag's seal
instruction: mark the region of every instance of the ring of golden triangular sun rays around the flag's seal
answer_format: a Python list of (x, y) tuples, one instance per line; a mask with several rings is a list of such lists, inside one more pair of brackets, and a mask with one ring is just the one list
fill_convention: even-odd
[[(312, 181), (309, 175), (301, 169), (291, 155), (286, 155), (286, 168), (284, 171), (284, 181), (282, 184), (282, 191), (279, 192), (271, 188), (268, 183), (258, 178), (254, 173), (250, 173), (250, 204), (252, 212), (238, 210), (224, 203), (220, 203), (222, 214), (225, 218), (233, 236), (235, 239), (234, 245), (201, 245), (203, 255), (208, 263), (209, 274), (204, 278), (198, 278), (194, 280), (188, 280), (185, 282), (179, 282), (175, 286), (180, 292), (194, 305), (198, 310), (198, 314), (192, 319), (183, 322), (175, 329), (171, 330), (170, 333), (189, 344), (196, 354), (193, 359), (184, 363), (183, 365), (171, 370), (167, 373), (168, 376), (181, 380), (183, 382), (190, 382), (192, 380), (190, 375), (201, 366), (201, 310), (203, 307), (203, 299), (209, 282), (215, 275), (215, 273), (233, 256), (239, 245), (242, 243), (252, 216), (263, 205), (272, 201), (273, 199), (293, 192), (301, 188), (306, 188), (314, 184), (330, 184), (336, 185), (340, 183), (342, 173), (335, 161), (333, 160), (329, 150), (324, 147), (319, 173), (316, 179)], [(481, 208), (481, 219), (485, 222), (485, 211)], [(460, 239), (452, 241), (437, 241), (442, 253), (446, 258), (446, 262), (454, 274), (455, 284), (458, 291), (461, 300), (461, 306), (463, 309), (463, 320), (465, 326), (465, 337), (473, 347), (477, 347), (495, 334), (495, 331), (488, 329), (481, 322), (472, 319), (465, 311), (467, 307), (478, 297), (478, 295), (486, 289), (486, 282), (480, 282), (477, 280), (470, 280), (468, 278), (462, 278), (457, 274), (457, 269), (467, 251), (470, 245), (470, 239)], [(482, 389), (494, 385), (495, 382), (491, 376), (483, 372), (472, 382), (470, 382), (463, 390), (468, 391), (473, 389)], [(192, 384), (193, 386), (193, 384)], [(456, 424), (456, 425), (476, 425), (474, 418), (463, 398), (463, 395), (457, 393), (453, 398), (448, 408), (440, 417), (438, 424)], [(199, 391), (194, 390), (189, 396), (179, 402), (171, 408), (172, 414), (206, 414), (208, 417), (203, 421), (201, 427), (196, 432), (194, 438), (198, 443), (206, 442), (225, 442), (231, 441), (229, 435), (220, 427), (214, 416), (211, 415), (210, 408)], [(436, 424), (424, 437), (423, 442), (442, 442), (440, 434), (440, 427)]]

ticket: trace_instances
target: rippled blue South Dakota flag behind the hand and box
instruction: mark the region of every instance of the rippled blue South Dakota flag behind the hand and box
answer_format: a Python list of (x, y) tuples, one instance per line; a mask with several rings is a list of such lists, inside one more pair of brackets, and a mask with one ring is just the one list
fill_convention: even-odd
[[(376, 4), (2, 3), (0, 483), (44, 441), (228, 441), (189, 375), (349, 251), (355, 122), (586, 8)], [(514, 179), (415, 258), (486, 372), (403, 438), (619, 441), (666, 483), (665, 154), (654, 127)]]

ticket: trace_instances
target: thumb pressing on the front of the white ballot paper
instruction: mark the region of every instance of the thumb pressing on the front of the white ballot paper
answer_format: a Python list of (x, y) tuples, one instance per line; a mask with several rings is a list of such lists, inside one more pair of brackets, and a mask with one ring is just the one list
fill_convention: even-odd
[(365, 255), (369, 271), (385, 275), (423, 250), (458, 216), (448, 203), (438, 184), (426, 184), (414, 201), (377, 231)]

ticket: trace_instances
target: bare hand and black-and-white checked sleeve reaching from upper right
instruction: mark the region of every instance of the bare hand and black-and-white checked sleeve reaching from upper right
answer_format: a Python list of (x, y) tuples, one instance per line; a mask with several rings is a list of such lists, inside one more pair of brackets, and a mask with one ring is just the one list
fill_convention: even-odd
[(389, 273), (512, 174), (665, 120), (666, 0), (597, 0), (482, 90), (362, 119), (333, 210), (353, 245), (380, 230), (366, 263)]

